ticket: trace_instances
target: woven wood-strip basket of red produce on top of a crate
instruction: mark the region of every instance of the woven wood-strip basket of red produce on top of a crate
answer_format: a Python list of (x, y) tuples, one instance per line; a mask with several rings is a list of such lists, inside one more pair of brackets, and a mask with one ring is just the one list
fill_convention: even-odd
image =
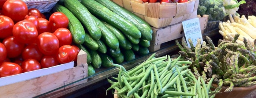
[(199, 0), (187, 3), (142, 3), (141, 0), (112, 0), (134, 12), (155, 28), (166, 27), (183, 20), (196, 18)]

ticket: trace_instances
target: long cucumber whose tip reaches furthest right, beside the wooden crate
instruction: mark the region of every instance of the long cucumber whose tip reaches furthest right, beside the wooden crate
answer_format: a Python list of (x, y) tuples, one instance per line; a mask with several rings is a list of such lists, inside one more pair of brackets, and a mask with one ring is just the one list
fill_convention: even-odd
[(98, 3), (104, 5), (112, 12), (115, 12), (116, 14), (122, 16), (123, 18), (129, 20), (131, 23), (136, 26), (140, 32), (141, 32), (141, 38), (151, 41), (152, 40), (152, 33), (153, 30), (149, 26), (148, 23), (146, 23), (145, 20), (141, 19), (140, 17), (136, 16), (135, 14), (131, 13), (130, 11), (126, 10), (123, 7), (120, 7), (118, 4), (110, 1), (110, 0), (95, 0)]

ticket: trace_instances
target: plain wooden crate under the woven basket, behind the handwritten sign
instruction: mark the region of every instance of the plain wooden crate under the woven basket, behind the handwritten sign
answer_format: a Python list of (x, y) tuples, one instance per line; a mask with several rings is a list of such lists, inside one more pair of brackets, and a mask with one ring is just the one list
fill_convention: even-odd
[[(204, 29), (207, 26), (208, 15), (203, 15), (203, 17), (200, 17), (199, 20), (201, 32), (203, 33)], [(152, 41), (150, 41), (149, 46), (150, 52), (155, 52), (156, 50), (159, 50), (161, 44), (165, 42), (172, 41), (174, 39), (185, 36), (181, 22), (160, 29), (152, 27), (152, 30)]]

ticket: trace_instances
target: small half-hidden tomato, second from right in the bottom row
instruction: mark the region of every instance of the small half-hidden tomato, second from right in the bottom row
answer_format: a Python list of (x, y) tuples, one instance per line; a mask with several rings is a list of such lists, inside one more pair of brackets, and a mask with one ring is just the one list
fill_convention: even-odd
[(55, 55), (51, 55), (51, 56), (43, 56), (42, 60), (40, 61), (40, 64), (42, 68), (48, 68), (48, 67), (59, 65), (59, 62)]

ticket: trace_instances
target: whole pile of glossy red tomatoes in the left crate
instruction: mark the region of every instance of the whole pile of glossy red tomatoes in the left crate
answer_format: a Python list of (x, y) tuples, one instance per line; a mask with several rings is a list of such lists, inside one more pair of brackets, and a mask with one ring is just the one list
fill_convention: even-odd
[(45, 19), (21, 0), (0, 0), (0, 77), (74, 61), (68, 18), (54, 12)]

